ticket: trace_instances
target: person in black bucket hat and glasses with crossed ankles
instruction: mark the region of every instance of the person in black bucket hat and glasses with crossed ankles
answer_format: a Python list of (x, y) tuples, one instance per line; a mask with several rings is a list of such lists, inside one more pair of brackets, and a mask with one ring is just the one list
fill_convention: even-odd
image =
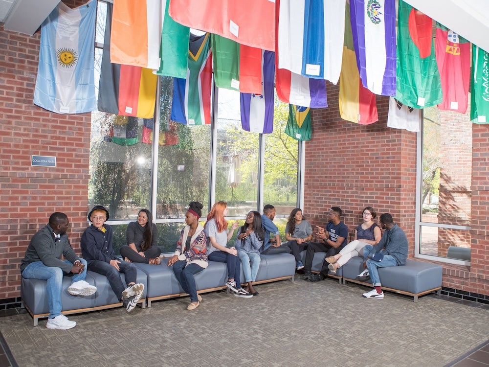
[[(131, 312), (141, 298), (144, 284), (136, 283), (136, 268), (115, 256), (112, 248), (112, 228), (104, 224), (109, 219), (109, 211), (101, 205), (94, 206), (88, 215), (92, 222), (82, 234), (80, 246), (82, 255), (92, 272), (107, 276), (117, 299), (121, 300), (127, 312)], [(127, 287), (119, 273), (124, 273)]]

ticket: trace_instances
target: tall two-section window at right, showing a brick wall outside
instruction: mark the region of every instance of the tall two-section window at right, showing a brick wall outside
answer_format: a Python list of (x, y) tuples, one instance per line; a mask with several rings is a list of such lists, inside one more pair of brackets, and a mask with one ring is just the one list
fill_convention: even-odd
[(472, 123), (468, 115), (426, 108), (421, 139), (417, 253), (420, 257), (436, 256), (441, 261), (450, 258), (467, 263), (470, 260)]

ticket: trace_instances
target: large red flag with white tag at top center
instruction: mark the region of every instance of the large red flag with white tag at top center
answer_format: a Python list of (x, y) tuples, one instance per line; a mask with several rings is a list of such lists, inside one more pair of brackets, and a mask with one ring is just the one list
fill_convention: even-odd
[(170, 0), (180, 24), (218, 34), (242, 45), (275, 49), (275, 2), (270, 0)]

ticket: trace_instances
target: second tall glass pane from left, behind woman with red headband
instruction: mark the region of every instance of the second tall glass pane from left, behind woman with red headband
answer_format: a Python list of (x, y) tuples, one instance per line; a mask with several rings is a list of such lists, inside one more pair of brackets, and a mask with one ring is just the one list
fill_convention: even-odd
[(186, 126), (170, 120), (173, 78), (160, 78), (160, 125), (156, 219), (184, 218), (200, 201), (207, 215), (211, 157), (210, 125)]

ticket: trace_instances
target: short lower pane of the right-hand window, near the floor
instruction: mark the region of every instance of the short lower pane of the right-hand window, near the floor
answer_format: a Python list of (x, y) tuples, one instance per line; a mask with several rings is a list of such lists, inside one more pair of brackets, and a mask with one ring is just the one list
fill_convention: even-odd
[(470, 231), (422, 226), (420, 253), (470, 261)]

